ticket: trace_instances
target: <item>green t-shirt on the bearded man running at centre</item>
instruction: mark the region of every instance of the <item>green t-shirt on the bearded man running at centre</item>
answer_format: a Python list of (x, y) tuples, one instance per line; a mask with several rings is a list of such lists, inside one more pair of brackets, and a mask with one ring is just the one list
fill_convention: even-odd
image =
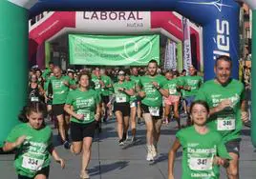
[(151, 77), (149, 75), (141, 76), (138, 85), (141, 90), (145, 91), (146, 93), (146, 96), (142, 99), (141, 103), (149, 107), (161, 107), (162, 96), (160, 94), (160, 91), (154, 88), (152, 82), (157, 82), (160, 88), (164, 89), (166, 79), (161, 75), (157, 75), (154, 77)]

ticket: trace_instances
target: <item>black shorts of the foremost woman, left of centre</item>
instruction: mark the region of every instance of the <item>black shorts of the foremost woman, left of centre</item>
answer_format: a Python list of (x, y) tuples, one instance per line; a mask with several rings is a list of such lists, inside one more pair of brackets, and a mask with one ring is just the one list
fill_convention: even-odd
[(71, 138), (74, 142), (83, 141), (85, 137), (94, 138), (96, 130), (96, 122), (89, 124), (79, 124), (71, 122)]

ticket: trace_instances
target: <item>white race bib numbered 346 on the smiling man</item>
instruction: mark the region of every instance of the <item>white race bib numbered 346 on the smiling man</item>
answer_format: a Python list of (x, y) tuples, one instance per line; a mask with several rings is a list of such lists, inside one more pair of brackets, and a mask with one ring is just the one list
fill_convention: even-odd
[(236, 121), (234, 118), (217, 118), (218, 130), (232, 130), (236, 129)]

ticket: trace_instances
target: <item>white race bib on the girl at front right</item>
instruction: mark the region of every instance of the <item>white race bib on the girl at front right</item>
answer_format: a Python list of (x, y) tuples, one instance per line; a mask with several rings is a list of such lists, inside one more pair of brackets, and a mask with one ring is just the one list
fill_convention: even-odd
[(212, 158), (194, 158), (189, 160), (189, 168), (193, 170), (212, 169)]

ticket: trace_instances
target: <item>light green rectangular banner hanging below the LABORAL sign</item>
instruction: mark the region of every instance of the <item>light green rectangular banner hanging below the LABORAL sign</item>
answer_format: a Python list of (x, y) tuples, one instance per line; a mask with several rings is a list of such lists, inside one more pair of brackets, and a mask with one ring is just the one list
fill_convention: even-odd
[(160, 62), (160, 35), (69, 35), (70, 64), (146, 66)]

